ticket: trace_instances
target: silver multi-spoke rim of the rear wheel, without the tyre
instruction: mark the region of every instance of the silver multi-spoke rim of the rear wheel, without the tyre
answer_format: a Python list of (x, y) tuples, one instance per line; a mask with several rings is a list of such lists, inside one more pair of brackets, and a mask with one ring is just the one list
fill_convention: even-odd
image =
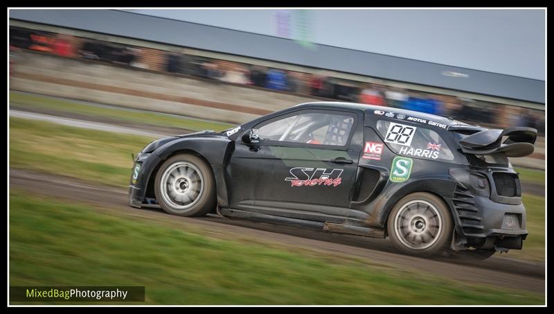
[(412, 250), (425, 250), (438, 240), (443, 220), (434, 204), (411, 200), (397, 211), (394, 226), (403, 245)]

